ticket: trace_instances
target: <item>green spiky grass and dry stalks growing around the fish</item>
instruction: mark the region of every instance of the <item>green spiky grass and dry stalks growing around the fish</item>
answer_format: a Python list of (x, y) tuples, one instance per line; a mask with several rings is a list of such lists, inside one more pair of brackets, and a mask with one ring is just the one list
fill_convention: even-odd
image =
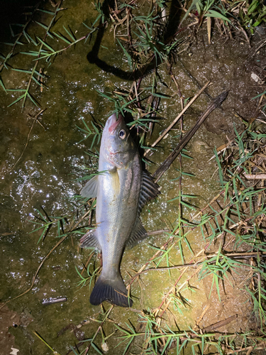
[[(58, 1), (54, 9), (36, 7), (28, 14), (26, 23), (11, 25), (13, 43), (4, 43), (5, 50), (8, 46), (11, 50), (1, 53), (0, 57), (1, 89), (6, 94), (18, 94), (9, 106), (19, 103), (24, 108), (34, 104), (36, 110), (39, 109), (41, 94), (43, 90), (49, 89), (50, 65), (58, 60), (59, 55), (67, 55), (70, 48), (74, 49), (87, 40), (95, 40), (93, 49), (87, 55), (89, 62), (129, 81), (128, 87), (105, 92), (97, 90), (99, 99), (110, 102), (110, 106), (117, 113), (122, 112), (131, 117), (128, 125), (135, 132), (136, 141), (144, 151), (143, 160), (147, 165), (153, 163), (150, 150), (160, 149), (153, 133), (162, 121), (162, 100), (167, 102), (173, 97), (179, 97), (184, 111), (193, 102), (192, 98), (182, 97), (173, 70), (178, 55), (187, 50), (194, 40), (188, 29), (194, 26), (196, 33), (200, 27), (205, 31), (206, 26), (209, 43), (214, 31), (229, 38), (240, 36), (241, 40), (249, 42), (257, 26), (266, 24), (266, 6), (257, 0), (193, 0), (190, 4), (182, 1), (175, 11), (175, 16), (171, 15), (171, 4), (161, 0), (149, 3), (143, 1), (142, 5), (131, 0), (112, 6), (109, 6), (108, 1), (102, 4), (96, 1), (94, 7), (94, 20), (91, 24), (83, 23), (84, 33), (79, 35), (74, 28), (60, 28), (60, 21), (57, 23), (57, 16), (65, 11), (62, 1)], [(35, 19), (36, 14), (40, 13), (45, 15), (45, 21)], [(37, 23), (38, 30), (30, 26), (32, 21)], [(121, 68), (111, 66), (99, 58), (101, 39), (107, 28), (112, 31), (119, 53), (123, 55)], [(264, 45), (265, 42), (261, 43), (260, 48)], [(17, 67), (16, 58), (21, 55), (30, 58), (28, 67)], [(161, 65), (167, 66), (166, 79), (160, 77), (158, 68)], [(5, 80), (6, 72), (10, 70), (15, 74), (24, 75), (23, 80), (18, 76), (21, 82), (17, 82), (17, 87), (10, 87), (9, 82)], [(145, 80), (146, 77), (149, 77), (149, 81)], [(16, 77), (13, 81), (16, 82)], [(258, 109), (265, 109), (263, 90), (259, 97)], [(138, 287), (138, 283), (141, 288), (143, 273), (163, 273), (167, 270), (172, 276), (172, 272), (178, 270), (177, 279), (171, 278), (167, 290), (161, 290), (162, 297), (152, 310), (132, 310), (138, 315), (134, 323), (129, 320), (121, 324), (119, 320), (113, 320), (112, 311), (115, 307), (112, 305), (106, 308), (106, 305), (102, 305), (97, 317), (89, 315), (90, 320), (97, 324), (96, 332), (86, 333), (86, 337), (75, 348), (73, 344), (69, 344), (72, 354), (88, 354), (90, 350), (94, 351), (94, 354), (104, 354), (108, 350), (111, 337), (117, 339), (119, 349), (122, 349), (121, 354), (126, 355), (186, 354), (186, 351), (187, 354), (241, 354), (242, 351), (251, 354), (252, 351), (265, 349), (266, 133), (265, 127), (259, 126), (256, 118), (254, 116), (249, 122), (243, 121), (243, 130), (235, 129), (234, 138), (228, 138), (227, 144), (215, 150), (213, 159), (216, 160), (215, 174), (220, 188), (216, 196), (206, 202), (204, 207), (198, 207), (194, 203), (196, 196), (189, 195), (182, 189), (183, 179), (191, 176), (183, 167), (184, 159), (190, 158), (189, 152), (182, 150), (178, 157), (177, 176), (174, 178), (177, 182), (177, 194), (167, 201), (168, 206), (177, 204), (177, 218), (172, 221), (172, 225), (167, 225), (165, 231), (158, 231), (158, 234), (164, 233), (167, 236), (165, 243), (162, 246), (151, 246), (153, 256), (150, 256), (138, 271), (132, 271), (132, 275), (128, 273), (128, 289), (134, 297), (134, 288)], [(88, 138), (90, 142), (88, 154), (92, 160), (87, 175), (91, 178), (97, 174), (95, 160), (99, 151), (101, 125), (96, 121), (88, 124), (85, 120), (83, 124), (79, 130), (84, 134), (84, 139)], [(184, 117), (179, 116), (175, 124), (179, 124), (178, 129), (174, 131), (175, 138), (181, 140), (184, 134)], [(162, 132), (162, 136), (166, 136), (166, 132)], [(60, 239), (56, 248), (68, 236), (80, 237), (88, 228), (94, 227), (96, 201), (86, 201), (74, 196), (72, 204), (71, 215), (50, 216), (44, 209), (36, 210), (37, 215), (31, 222), (35, 224), (33, 232), (39, 234), (38, 243), (53, 233)], [(192, 232), (193, 235), (201, 235), (198, 250), (194, 250), (191, 245)], [(182, 261), (179, 265), (176, 262), (177, 250)], [(87, 263), (83, 267), (76, 267), (77, 292), (83, 287), (89, 288), (93, 285), (95, 276), (101, 271), (100, 262), (96, 261), (94, 256), (92, 251)], [(46, 259), (47, 257), (40, 267)], [(35, 273), (31, 288), (39, 271), (40, 268)], [(209, 300), (217, 296), (221, 302), (226, 295), (226, 288), (230, 285), (240, 289), (249, 311), (245, 329), (226, 331), (226, 325), (237, 319), (236, 314), (209, 327), (200, 327), (199, 323), (207, 312), (206, 308), (194, 327), (188, 325), (187, 329), (179, 329), (176, 314), (181, 317), (184, 310), (192, 307), (187, 295), (198, 292), (196, 287), (192, 286), (194, 280), (199, 282), (198, 285), (208, 280)], [(113, 327), (108, 335), (104, 331), (107, 323)], [(50, 344), (46, 343), (48, 339), (44, 340), (41, 334), (35, 335), (46, 345)], [(48, 347), (54, 354), (58, 354), (50, 345)]]

